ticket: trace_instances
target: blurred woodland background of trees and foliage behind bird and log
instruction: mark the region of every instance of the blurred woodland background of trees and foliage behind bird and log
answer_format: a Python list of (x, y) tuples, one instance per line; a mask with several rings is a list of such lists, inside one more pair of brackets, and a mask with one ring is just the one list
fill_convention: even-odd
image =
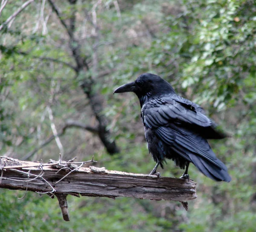
[[(0, 189), (1, 231), (254, 232), (256, 3), (253, 0), (2, 0), (0, 155), (90, 160), (148, 174), (137, 97), (113, 96), (148, 72), (207, 110), (231, 138), (210, 141), (228, 167), (216, 183), (193, 165), (198, 198), (179, 202), (68, 197)], [(55, 135), (55, 136), (54, 136)], [(183, 170), (167, 161), (162, 176)]]

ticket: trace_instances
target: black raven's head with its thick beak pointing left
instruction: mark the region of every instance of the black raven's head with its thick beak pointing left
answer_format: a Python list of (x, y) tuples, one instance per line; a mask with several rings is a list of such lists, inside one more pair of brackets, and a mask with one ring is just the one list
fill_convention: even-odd
[(158, 75), (144, 73), (135, 81), (118, 87), (114, 93), (133, 92), (138, 98), (144, 96), (160, 96), (166, 93), (175, 93), (172, 86)]

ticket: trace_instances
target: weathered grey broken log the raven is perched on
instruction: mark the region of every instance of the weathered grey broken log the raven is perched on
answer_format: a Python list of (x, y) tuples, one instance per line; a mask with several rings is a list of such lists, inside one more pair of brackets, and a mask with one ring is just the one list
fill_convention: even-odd
[[(70, 173), (70, 170), (74, 168), (75, 165), (72, 166), (63, 162), (61, 165), (53, 165), (0, 157), (0, 188), (48, 194), (52, 192), (52, 194), (60, 195), (135, 197), (180, 202), (197, 197), (196, 184), (192, 180), (171, 177), (159, 179), (154, 175), (109, 171), (93, 166), (77, 168)], [(67, 177), (59, 181), (68, 173), (70, 174)], [(43, 174), (42, 177), (36, 178), (41, 174)]]

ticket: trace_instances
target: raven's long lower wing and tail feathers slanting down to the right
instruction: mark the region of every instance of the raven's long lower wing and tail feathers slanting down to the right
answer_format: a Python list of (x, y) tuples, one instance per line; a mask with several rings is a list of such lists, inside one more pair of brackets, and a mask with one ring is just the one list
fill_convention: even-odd
[(156, 128), (155, 133), (163, 142), (170, 145), (173, 151), (192, 162), (206, 176), (213, 180), (230, 182), (227, 167), (216, 157), (207, 139), (200, 134), (173, 123)]

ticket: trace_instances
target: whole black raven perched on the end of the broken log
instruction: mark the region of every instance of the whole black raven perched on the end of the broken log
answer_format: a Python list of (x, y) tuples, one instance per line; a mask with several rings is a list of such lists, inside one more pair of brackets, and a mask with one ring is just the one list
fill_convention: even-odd
[(163, 168), (165, 159), (172, 159), (185, 169), (180, 178), (189, 179), (189, 163), (216, 181), (230, 182), (227, 167), (215, 156), (207, 139), (223, 139), (198, 104), (175, 93), (172, 86), (158, 75), (144, 73), (136, 81), (118, 87), (114, 93), (133, 92), (140, 100), (141, 119), (148, 142), (148, 151)]

